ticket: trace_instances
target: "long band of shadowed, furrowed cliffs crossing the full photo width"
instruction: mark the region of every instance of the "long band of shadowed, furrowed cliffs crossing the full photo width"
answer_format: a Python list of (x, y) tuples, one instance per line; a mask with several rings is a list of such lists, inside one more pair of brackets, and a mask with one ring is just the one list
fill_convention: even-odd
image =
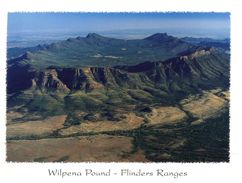
[(203, 89), (229, 83), (229, 57), (214, 50), (200, 50), (164, 62), (136, 66), (49, 68), (41, 71), (18, 64), (8, 69), (8, 93), (26, 89), (42, 91), (84, 90), (105, 87), (142, 88), (166, 91)]

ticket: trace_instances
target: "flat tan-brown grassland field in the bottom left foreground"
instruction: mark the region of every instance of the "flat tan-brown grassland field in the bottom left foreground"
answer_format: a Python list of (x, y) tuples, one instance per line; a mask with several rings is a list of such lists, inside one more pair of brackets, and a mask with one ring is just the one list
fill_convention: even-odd
[(132, 154), (132, 138), (109, 135), (18, 140), (7, 144), (7, 161), (132, 162), (147, 161)]

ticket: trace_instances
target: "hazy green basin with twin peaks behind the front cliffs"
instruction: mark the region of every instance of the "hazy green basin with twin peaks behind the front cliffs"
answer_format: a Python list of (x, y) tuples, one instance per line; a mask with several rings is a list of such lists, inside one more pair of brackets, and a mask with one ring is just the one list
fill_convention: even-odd
[[(194, 46), (167, 34), (154, 34), (145, 39), (122, 40), (103, 37), (90, 33), (86, 37), (69, 38), (65, 41), (36, 48), (9, 50), (9, 57), (22, 65), (31, 63), (35, 68), (49, 66), (69, 67), (78, 66), (115, 66), (135, 65), (145, 61), (161, 61)], [(23, 59), (24, 58), (24, 59)], [(10, 63), (13, 59), (10, 59)]]

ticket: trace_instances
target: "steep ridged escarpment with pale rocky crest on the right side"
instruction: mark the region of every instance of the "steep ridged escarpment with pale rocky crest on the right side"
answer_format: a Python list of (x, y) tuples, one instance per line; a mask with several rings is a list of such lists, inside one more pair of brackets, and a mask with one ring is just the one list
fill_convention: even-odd
[(188, 88), (228, 87), (229, 65), (229, 55), (208, 49), (163, 62), (145, 62), (116, 68), (139, 74), (144, 82), (148, 79), (155, 87), (171, 92)]

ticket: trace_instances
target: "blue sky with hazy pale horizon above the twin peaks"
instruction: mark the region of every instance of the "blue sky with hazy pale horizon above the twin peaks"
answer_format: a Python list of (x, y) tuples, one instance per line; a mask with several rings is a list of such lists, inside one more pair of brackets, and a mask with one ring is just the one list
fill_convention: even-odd
[[(229, 13), (9, 13), (8, 36), (89, 32), (137, 38), (166, 32), (177, 37), (228, 38)], [(81, 35), (82, 36), (82, 35)]]

